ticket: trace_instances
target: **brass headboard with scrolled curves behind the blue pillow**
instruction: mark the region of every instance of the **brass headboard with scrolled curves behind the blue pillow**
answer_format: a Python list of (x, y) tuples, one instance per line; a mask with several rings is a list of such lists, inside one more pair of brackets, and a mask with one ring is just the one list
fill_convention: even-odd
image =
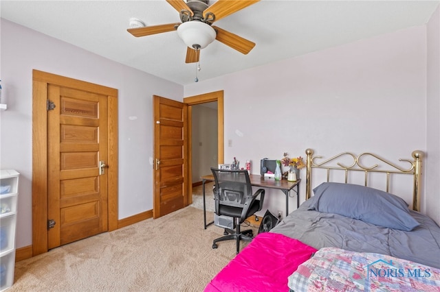
[[(390, 175), (393, 173), (403, 173), (409, 174), (413, 176), (413, 184), (412, 184), (412, 209), (419, 211), (420, 210), (420, 195), (421, 195), (421, 167), (423, 160), (423, 151), (415, 150), (412, 151), (412, 160), (410, 159), (399, 159), (399, 161), (406, 161), (410, 163), (410, 167), (408, 169), (402, 169), (401, 167), (376, 156), (371, 153), (362, 153), (359, 156), (355, 156), (349, 152), (342, 152), (332, 158), (329, 158), (323, 162), (316, 162), (317, 158), (322, 158), (322, 156), (314, 156), (314, 151), (312, 149), (306, 149), (305, 154), (307, 154), (307, 180), (306, 180), (306, 193), (305, 199), (309, 199), (311, 197), (311, 169), (327, 169), (327, 182), (329, 182), (330, 171), (331, 170), (343, 170), (345, 171), (345, 183), (348, 180), (349, 171), (363, 171), (365, 173), (365, 186), (367, 186), (369, 173), (386, 173), (386, 192), (389, 191), (390, 187)], [(353, 158), (353, 163), (349, 166), (342, 165), (342, 163), (337, 162), (338, 158), (342, 156), (351, 156)], [(378, 165), (373, 165), (371, 167), (365, 167), (361, 164), (360, 158), (362, 156), (371, 156), (384, 162), (384, 166), (390, 168), (390, 170), (382, 170), (376, 169)], [(337, 162), (338, 167), (329, 166), (329, 162)]]

